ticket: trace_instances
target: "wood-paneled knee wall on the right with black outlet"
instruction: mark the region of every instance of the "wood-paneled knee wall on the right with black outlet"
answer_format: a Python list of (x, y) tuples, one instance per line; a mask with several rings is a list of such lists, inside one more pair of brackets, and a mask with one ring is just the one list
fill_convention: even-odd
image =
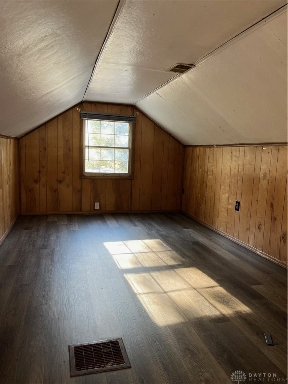
[(287, 263), (287, 146), (187, 147), (184, 162), (184, 212)]

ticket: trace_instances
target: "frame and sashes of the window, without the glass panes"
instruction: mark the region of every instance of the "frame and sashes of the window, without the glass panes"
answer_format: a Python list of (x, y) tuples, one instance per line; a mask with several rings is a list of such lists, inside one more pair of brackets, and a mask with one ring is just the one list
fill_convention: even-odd
[[(86, 145), (86, 123), (88, 121), (107, 121), (107, 122), (124, 122), (129, 124), (129, 143), (128, 147), (115, 147), (115, 146), (93, 146)], [(132, 178), (132, 146), (133, 146), (133, 123), (123, 120), (105, 120), (105, 118), (84, 118), (82, 120), (82, 177), (84, 178)], [(86, 171), (86, 148), (111, 148), (111, 149), (128, 149), (129, 150), (129, 159), (128, 159), (128, 172), (127, 173), (104, 173), (104, 172), (87, 172)], [(115, 161), (115, 160), (114, 160)]]

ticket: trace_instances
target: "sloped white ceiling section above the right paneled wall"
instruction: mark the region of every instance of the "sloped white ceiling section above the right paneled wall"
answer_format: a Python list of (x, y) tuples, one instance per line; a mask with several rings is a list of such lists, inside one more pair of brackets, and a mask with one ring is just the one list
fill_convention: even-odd
[(136, 104), (187, 145), (287, 141), (287, 12)]

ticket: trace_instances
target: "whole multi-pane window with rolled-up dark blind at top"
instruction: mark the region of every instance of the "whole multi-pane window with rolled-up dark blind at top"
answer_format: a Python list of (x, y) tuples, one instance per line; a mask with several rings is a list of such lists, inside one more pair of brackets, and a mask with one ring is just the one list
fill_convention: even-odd
[(135, 116), (81, 112), (81, 118), (84, 119), (83, 174), (129, 177)]

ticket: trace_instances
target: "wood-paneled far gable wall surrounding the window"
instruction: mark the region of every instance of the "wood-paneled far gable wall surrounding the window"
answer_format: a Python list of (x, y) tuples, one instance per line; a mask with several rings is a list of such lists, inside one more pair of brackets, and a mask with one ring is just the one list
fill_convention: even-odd
[[(84, 103), (81, 108), (138, 113), (133, 179), (80, 178), (81, 121), (74, 107), (21, 138), (21, 212), (180, 210), (183, 145), (130, 106)], [(96, 211), (95, 202), (100, 203)]]

